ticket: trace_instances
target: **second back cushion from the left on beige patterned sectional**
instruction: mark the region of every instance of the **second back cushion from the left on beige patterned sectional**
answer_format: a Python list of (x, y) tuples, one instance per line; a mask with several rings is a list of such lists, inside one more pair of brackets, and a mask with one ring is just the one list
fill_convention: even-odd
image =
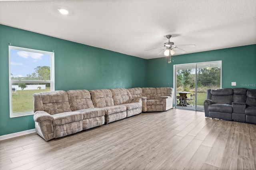
[(94, 108), (88, 90), (68, 90), (68, 102), (72, 111)]

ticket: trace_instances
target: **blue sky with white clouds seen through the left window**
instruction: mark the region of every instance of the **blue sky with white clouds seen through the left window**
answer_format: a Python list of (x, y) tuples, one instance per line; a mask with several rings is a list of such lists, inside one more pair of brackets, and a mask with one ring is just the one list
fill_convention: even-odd
[(34, 73), (37, 66), (50, 67), (50, 55), (16, 49), (10, 50), (11, 73), (13, 77), (26, 77)]

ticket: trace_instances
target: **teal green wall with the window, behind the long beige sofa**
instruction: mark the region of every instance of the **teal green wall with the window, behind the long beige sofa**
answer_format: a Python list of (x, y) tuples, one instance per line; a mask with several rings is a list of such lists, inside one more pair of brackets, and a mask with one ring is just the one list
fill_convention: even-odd
[(55, 90), (146, 86), (146, 60), (0, 25), (0, 136), (34, 128), (33, 116), (9, 117), (8, 45), (54, 50)]

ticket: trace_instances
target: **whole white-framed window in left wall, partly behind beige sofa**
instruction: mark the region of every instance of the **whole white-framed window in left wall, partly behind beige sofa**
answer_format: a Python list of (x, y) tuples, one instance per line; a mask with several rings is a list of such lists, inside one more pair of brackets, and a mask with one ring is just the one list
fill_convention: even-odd
[(10, 117), (33, 115), (33, 94), (54, 91), (54, 53), (9, 46)]

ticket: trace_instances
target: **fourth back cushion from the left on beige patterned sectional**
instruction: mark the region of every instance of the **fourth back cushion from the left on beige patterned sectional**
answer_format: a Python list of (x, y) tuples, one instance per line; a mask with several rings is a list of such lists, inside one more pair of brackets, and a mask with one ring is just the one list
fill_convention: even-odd
[(114, 105), (121, 105), (123, 103), (127, 103), (129, 100), (127, 91), (124, 88), (110, 89), (110, 91), (112, 93)]

